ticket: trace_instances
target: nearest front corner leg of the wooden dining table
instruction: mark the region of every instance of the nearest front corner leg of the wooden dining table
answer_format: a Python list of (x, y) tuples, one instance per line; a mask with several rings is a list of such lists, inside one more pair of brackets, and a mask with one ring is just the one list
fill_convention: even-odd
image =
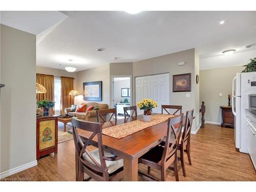
[(123, 180), (138, 181), (138, 159), (123, 158)]

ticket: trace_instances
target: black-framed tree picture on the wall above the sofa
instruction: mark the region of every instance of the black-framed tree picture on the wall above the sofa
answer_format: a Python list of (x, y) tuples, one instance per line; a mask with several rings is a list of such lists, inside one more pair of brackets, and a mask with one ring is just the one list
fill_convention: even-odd
[(84, 82), (83, 99), (88, 101), (102, 101), (102, 81)]

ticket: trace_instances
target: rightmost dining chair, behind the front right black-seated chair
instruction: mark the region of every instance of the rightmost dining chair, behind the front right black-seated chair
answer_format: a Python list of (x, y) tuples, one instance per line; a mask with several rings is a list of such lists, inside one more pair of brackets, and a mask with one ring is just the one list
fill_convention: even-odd
[(189, 165), (192, 165), (190, 158), (190, 134), (191, 127), (194, 119), (194, 109), (186, 112), (185, 126), (178, 145), (178, 150), (180, 151), (180, 160), (183, 176), (186, 177), (185, 163), (184, 163), (184, 152), (187, 154)]

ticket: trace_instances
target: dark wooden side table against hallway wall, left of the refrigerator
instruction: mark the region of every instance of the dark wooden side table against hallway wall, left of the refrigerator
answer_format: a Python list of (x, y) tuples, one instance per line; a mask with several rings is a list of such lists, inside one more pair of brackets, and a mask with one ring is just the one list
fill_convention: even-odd
[(221, 108), (221, 127), (234, 127), (234, 116), (232, 106), (220, 106)]

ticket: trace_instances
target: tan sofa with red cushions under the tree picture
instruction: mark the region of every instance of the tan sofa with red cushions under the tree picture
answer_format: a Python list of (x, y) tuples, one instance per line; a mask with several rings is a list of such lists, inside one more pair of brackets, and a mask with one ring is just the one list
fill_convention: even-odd
[[(100, 103), (96, 103), (96, 102), (81, 103), (81, 104), (82, 105), (86, 104), (86, 110), (91, 105), (98, 106), (99, 110), (109, 109), (108, 104), (100, 104)], [(84, 112), (84, 113), (81, 113), (81, 112), (70, 112), (70, 110), (71, 110), (71, 108), (66, 108), (64, 110), (64, 112), (66, 114), (69, 114), (70, 116), (77, 117), (77, 118), (80, 118), (80, 119), (84, 119), (86, 121), (97, 122), (97, 112), (96, 112), (96, 110), (92, 110), (92, 111)]]

